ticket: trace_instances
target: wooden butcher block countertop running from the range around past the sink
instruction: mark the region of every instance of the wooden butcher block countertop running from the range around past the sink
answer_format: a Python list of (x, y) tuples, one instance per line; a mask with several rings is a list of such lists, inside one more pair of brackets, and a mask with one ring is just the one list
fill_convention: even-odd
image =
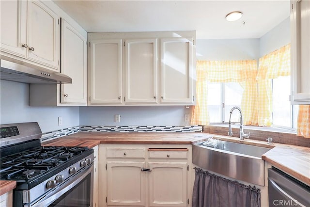
[(116, 144), (192, 144), (206, 140), (210, 136), (216, 138), (272, 148), (262, 156), (262, 159), (271, 163), (280, 170), (293, 175), (298, 180), (310, 186), (310, 148), (286, 144), (266, 144), (267, 142), (247, 140), (229, 136), (201, 132), (78, 132), (63, 138), (42, 143), (43, 146), (88, 146), (99, 143)]

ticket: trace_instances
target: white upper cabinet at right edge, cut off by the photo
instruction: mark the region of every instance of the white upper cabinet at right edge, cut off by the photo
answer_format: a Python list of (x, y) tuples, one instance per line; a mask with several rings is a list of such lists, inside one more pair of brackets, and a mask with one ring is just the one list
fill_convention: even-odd
[(292, 104), (310, 104), (310, 1), (291, 0)]

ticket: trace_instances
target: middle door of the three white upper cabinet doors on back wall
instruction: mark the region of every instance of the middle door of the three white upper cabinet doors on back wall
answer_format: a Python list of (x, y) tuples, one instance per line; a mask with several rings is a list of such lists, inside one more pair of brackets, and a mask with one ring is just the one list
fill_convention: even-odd
[(157, 103), (156, 39), (125, 42), (126, 104)]

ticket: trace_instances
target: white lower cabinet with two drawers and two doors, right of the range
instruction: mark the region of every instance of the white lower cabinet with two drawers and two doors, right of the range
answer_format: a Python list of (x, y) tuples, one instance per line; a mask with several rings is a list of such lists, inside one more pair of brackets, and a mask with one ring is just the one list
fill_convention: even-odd
[(101, 144), (100, 207), (187, 207), (191, 145)]

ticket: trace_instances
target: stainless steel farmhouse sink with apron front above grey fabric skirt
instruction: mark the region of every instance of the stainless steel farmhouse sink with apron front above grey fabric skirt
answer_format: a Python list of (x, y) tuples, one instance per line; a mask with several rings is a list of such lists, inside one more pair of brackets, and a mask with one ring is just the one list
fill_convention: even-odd
[(209, 138), (193, 144), (193, 163), (205, 170), (264, 186), (262, 155), (270, 148)]

